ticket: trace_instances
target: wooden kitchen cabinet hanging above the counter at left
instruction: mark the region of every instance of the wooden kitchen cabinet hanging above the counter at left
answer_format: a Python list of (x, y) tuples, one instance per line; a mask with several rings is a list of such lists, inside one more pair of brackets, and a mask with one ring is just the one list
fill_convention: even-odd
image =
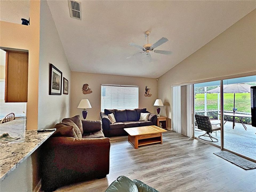
[(29, 53), (5, 51), (5, 102), (27, 102)]

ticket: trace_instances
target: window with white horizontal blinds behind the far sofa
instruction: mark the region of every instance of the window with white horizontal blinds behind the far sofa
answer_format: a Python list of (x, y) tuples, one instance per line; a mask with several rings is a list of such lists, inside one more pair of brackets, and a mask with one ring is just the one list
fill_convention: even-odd
[(135, 109), (138, 107), (138, 86), (101, 85), (101, 111), (104, 111), (104, 109)]

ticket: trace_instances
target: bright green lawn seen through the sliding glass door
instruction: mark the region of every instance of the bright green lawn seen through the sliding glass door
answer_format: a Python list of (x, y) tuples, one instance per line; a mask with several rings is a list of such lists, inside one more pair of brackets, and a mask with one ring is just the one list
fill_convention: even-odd
[[(217, 93), (207, 93), (207, 110), (217, 110), (218, 109), (218, 94)], [(196, 94), (195, 95), (195, 111), (202, 111), (205, 108), (204, 104), (205, 95)], [(234, 94), (224, 93), (224, 110), (232, 111), (234, 105)], [(250, 93), (236, 93), (235, 94), (235, 108), (239, 112), (251, 112), (251, 101)]]

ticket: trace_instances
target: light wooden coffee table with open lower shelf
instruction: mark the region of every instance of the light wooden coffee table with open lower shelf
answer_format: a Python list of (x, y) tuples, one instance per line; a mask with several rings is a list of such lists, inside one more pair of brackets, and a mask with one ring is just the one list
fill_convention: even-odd
[(152, 143), (163, 144), (162, 133), (167, 131), (155, 125), (131, 127), (125, 128), (124, 130), (129, 134), (128, 141), (135, 149), (139, 149), (139, 146)]

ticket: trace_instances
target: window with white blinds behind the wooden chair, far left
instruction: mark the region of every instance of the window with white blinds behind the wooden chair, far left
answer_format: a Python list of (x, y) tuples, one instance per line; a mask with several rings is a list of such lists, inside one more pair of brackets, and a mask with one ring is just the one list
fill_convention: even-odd
[(5, 103), (5, 79), (0, 79), (0, 119), (9, 113), (14, 113), (15, 117), (25, 117), (27, 103)]

